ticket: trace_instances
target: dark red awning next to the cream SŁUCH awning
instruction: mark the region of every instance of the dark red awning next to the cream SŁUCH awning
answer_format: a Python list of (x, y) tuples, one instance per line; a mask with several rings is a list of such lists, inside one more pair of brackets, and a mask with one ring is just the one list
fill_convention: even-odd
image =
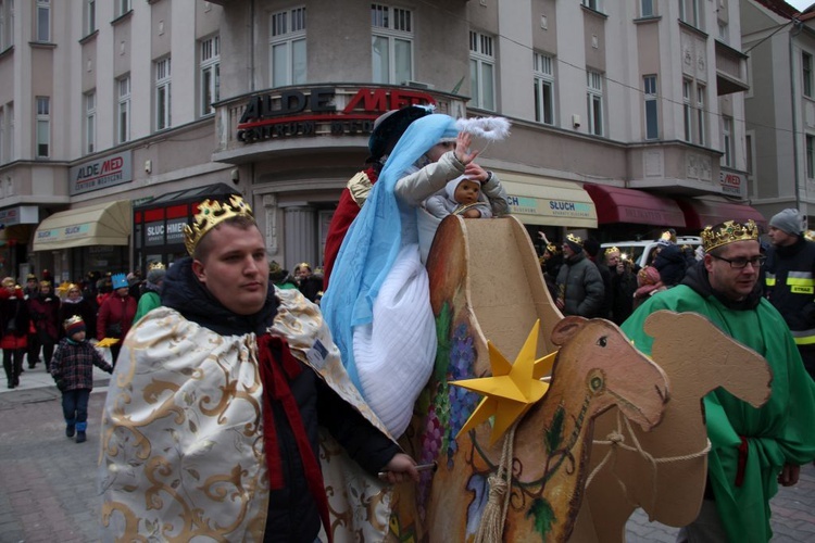
[(669, 198), (635, 189), (586, 184), (594, 201), (598, 224), (636, 223), (663, 227), (685, 227), (685, 214)]

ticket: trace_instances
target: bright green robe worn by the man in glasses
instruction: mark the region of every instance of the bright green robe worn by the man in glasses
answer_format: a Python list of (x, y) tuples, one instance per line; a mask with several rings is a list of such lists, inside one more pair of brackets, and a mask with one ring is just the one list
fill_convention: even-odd
[[(643, 324), (659, 310), (702, 314), (769, 363), (773, 392), (762, 407), (756, 409), (720, 388), (704, 399), (712, 444), (709, 484), (729, 539), (769, 541), (769, 498), (778, 492), (778, 473), (785, 464), (801, 466), (815, 458), (815, 383), (804, 370), (792, 336), (781, 315), (765, 299), (754, 310), (736, 311), (714, 295), (702, 296), (680, 285), (651, 296), (622, 326), (647, 354), (651, 354), (653, 338), (644, 333)], [(749, 452), (744, 481), (737, 488), (740, 435), (748, 439)]]

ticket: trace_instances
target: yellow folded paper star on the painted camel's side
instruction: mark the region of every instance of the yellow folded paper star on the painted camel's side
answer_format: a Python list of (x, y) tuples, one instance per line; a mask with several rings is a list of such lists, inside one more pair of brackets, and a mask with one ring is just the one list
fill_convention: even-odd
[(462, 427), (459, 435), (494, 415), (496, 424), (490, 435), (490, 444), (494, 444), (529, 407), (543, 397), (549, 390), (549, 383), (541, 381), (540, 378), (552, 370), (556, 353), (535, 359), (539, 329), (540, 320), (537, 320), (514, 364), (510, 364), (491, 342), (487, 342), (492, 377), (450, 382), (450, 384), (478, 392), (485, 396)]

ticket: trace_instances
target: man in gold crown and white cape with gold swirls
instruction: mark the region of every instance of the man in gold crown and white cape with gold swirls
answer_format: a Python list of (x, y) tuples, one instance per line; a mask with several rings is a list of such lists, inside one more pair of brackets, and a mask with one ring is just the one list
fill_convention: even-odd
[(164, 306), (127, 336), (110, 386), (103, 541), (312, 542), (321, 523), (328, 541), (381, 541), (391, 488), (377, 472), (417, 480), (413, 459), (348, 380), (317, 307), (268, 289), (249, 205), (199, 210), (190, 257), (167, 270)]

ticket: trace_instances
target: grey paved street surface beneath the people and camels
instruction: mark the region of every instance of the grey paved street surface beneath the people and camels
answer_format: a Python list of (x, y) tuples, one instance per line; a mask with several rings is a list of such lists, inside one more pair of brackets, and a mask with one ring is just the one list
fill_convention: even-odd
[[(99, 421), (110, 376), (93, 371), (85, 443), (65, 437), (60, 392), (42, 364), (26, 366), (14, 390), (0, 382), (0, 543), (99, 541)], [(815, 467), (804, 466), (772, 508), (774, 542), (815, 542)], [(626, 528), (628, 543), (668, 543), (678, 531), (641, 510)]]

